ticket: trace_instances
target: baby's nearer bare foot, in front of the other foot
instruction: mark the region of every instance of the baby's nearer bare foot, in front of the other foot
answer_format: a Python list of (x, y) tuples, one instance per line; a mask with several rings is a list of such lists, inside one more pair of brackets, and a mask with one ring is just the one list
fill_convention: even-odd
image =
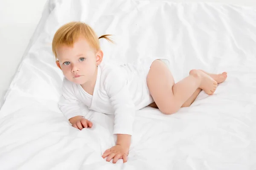
[(199, 88), (201, 88), (206, 94), (212, 95), (215, 92), (218, 83), (208, 74), (200, 70), (191, 70), (189, 74), (201, 77), (201, 84)]

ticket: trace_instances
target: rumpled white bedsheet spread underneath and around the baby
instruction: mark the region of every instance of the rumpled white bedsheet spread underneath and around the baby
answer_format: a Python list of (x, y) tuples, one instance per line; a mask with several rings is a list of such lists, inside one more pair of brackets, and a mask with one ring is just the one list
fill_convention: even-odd
[[(49, 13), (47, 12), (49, 11)], [(51, 41), (81, 20), (101, 40), (105, 60), (171, 60), (175, 81), (193, 68), (228, 72), (213, 96), (163, 115), (137, 112), (128, 162), (102, 153), (115, 144), (113, 117), (90, 111), (77, 130), (59, 111), (61, 71)], [(85, 109), (85, 108), (84, 108)], [(256, 8), (163, 0), (52, 0), (0, 110), (1, 170), (256, 170)]]

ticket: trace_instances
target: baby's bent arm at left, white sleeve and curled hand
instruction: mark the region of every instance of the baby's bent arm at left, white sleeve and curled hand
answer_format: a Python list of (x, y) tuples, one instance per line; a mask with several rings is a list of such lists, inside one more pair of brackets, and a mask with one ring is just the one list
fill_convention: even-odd
[(62, 86), (62, 96), (58, 103), (61, 112), (69, 120), (73, 127), (78, 129), (92, 127), (92, 122), (84, 119), (83, 113), (81, 111), (81, 102), (76, 98), (74, 93), (74, 88), (71, 82), (64, 79)]

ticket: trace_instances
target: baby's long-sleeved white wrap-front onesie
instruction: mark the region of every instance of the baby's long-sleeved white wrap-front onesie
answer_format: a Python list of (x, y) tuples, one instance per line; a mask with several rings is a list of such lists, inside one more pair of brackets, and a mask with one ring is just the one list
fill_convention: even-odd
[[(168, 61), (168, 60), (167, 60)], [(113, 134), (133, 133), (135, 111), (154, 102), (146, 76), (153, 60), (140, 64), (111, 65), (101, 63), (93, 95), (79, 84), (64, 78), (59, 108), (70, 119), (82, 116), (80, 104), (100, 113), (114, 114)]]

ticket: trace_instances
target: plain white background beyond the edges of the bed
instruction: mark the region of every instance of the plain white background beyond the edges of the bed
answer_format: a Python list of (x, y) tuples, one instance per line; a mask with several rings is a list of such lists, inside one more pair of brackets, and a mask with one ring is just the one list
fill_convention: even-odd
[[(0, 106), (47, 0), (0, 0)], [(170, 0), (255, 6), (256, 0)]]

